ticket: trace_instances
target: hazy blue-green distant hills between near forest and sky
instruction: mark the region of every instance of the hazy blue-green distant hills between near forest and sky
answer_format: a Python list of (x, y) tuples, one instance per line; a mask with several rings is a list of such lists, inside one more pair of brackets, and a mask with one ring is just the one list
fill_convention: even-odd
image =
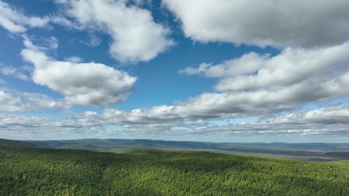
[[(152, 139), (73, 139), (51, 141), (27, 141), (40, 147), (56, 149), (85, 149), (123, 153), (134, 148), (159, 150), (211, 151), (220, 153), (245, 153), (246, 155), (290, 156), (295, 158), (346, 159), (349, 143), (212, 143), (191, 141), (163, 141)], [(340, 152), (340, 153), (334, 153)], [(349, 156), (348, 156), (349, 157)], [(320, 158), (320, 159), (321, 159)]]

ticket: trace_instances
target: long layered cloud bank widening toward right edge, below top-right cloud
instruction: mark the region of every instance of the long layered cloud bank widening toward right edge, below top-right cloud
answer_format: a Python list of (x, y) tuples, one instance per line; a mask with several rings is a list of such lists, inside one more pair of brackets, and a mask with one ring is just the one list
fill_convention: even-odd
[(98, 122), (183, 125), (184, 121), (264, 116), (314, 101), (347, 97), (348, 51), (347, 43), (317, 49), (286, 48), (272, 58), (249, 53), (219, 65), (204, 64), (190, 68), (189, 72), (222, 77), (215, 89), (223, 92), (203, 93), (172, 105), (133, 110), (105, 109), (102, 114), (87, 112), (77, 119), (89, 125)]

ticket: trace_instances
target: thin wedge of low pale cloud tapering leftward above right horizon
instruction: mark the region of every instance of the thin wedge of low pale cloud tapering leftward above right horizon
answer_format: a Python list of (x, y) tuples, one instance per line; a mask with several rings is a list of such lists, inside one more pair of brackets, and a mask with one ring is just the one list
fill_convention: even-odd
[(280, 135), (347, 135), (349, 121), (348, 105), (330, 106), (306, 112), (262, 118), (249, 123), (202, 127), (207, 133), (234, 134), (280, 134)]

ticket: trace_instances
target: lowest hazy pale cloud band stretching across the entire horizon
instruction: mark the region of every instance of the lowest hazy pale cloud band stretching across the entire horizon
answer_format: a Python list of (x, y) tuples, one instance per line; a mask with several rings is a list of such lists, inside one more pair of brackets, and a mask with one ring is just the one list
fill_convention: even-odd
[[(92, 115), (92, 114), (89, 114)], [(168, 139), (223, 139), (228, 142), (234, 138), (254, 139), (257, 137), (279, 137), (287, 141), (289, 138), (307, 138), (307, 141), (316, 137), (322, 142), (330, 139), (340, 141), (347, 136), (349, 109), (348, 105), (330, 106), (310, 111), (276, 117), (261, 118), (252, 122), (241, 122), (226, 125), (213, 125), (204, 121), (179, 123), (147, 123), (126, 124), (115, 127), (115, 130), (106, 131), (101, 124), (86, 124), (74, 120), (53, 120), (41, 117), (23, 117), (17, 115), (0, 115), (0, 135), (2, 137), (29, 138), (29, 139), (57, 139), (84, 137), (114, 137), (114, 136), (142, 136), (149, 138)], [(45, 133), (45, 134), (43, 134)], [(264, 135), (264, 136), (263, 136)], [(328, 138), (331, 135), (331, 138)], [(325, 137), (324, 137), (325, 136)], [(327, 141), (323, 141), (327, 138)], [(235, 140), (236, 141), (236, 140)]]

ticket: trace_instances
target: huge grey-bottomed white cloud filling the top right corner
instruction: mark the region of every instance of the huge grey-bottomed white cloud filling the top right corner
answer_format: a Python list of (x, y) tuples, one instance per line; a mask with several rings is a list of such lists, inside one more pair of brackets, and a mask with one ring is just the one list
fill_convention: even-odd
[(349, 2), (163, 0), (186, 37), (277, 47), (341, 44), (349, 39)]

